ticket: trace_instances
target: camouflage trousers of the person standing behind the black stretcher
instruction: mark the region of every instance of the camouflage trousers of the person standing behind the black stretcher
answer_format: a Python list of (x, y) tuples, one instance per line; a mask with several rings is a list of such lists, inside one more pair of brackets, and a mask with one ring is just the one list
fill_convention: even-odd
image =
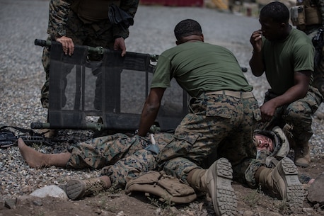
[[(100, 21), (96, 24), (85, 24), (72, 10), (66, 22), (66, 37), (71, 38), (74, 45), (87, 45), (91, 47), (104, 47), (112, 49), (115, 39), (112, 33), (112, 24), (108, 21)], [(47, 40), (54, 41), (50, 35)], [(89, 54), (88, 58), (98, 61), (102, 58), (98, 54)], [(49, 89), (50, 89), (50, 48), (44, 47), (42, 52), (42, 65), (45, 70), (45, 84), (41, 89), (40, 102), (43, 108), (49, 108)], [(99, 74), (100, 72), (96, 72)], [(100, 77), (98, 78), (100, 81)]]

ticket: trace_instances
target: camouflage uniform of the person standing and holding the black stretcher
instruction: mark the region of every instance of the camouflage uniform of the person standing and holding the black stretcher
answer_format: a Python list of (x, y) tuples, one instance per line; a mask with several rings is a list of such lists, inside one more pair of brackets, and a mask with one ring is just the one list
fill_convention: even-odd
[[(87, 21), (79, 16), (79, 13), (77, 13), (79, 10), (78, 4), (86, 1), (88, 0), (51, 0), (47, 28), (47, 34), (49, 34), (49, 36), (47, 40), (54, 41), (57, 37), (66, 36), (73, 40), (74, 45), (88, 45), (91, 47), (112, 49), (115, 38), (128, 38), (128, 29), (122, 30), (117, 25), (112, 25), (112, 23), (110, 23), (108, 18), (108, 7), (112, 3), (116, 4), (120, 6), (122, 10), (134, 17), (139, 5), (139, 0), (91, 1), (90, 4), (93, 4), (94, 8), (87, 8), (88, 11), (91, 11), (91, 9), (95, 11), (96, 8), (101, 6), (100, 4), (103, 4), (104, 8), (107, 7), (107, 18), (100, 21)], [(100, 56), (90, 55), (89, 59), (98, 60)], [(42, 64), (46, 73), (46, 81), (44, 86), (42, 86), (40, 101), (44, 108), (48, 108), (48, 93), (50, 86), (50, 49), (48, 47), (45, 47), (43, 50)]]

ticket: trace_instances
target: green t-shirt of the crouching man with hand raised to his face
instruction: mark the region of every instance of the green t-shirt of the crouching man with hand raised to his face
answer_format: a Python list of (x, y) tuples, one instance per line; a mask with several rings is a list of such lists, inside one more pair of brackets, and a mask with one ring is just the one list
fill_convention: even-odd
[(267, 81), (277, 95), (294, 86), (294, 72), (313, 71), (312, 42), (305, 33), (295, 28), (280, 42), (263, 38), (262, 55)]

